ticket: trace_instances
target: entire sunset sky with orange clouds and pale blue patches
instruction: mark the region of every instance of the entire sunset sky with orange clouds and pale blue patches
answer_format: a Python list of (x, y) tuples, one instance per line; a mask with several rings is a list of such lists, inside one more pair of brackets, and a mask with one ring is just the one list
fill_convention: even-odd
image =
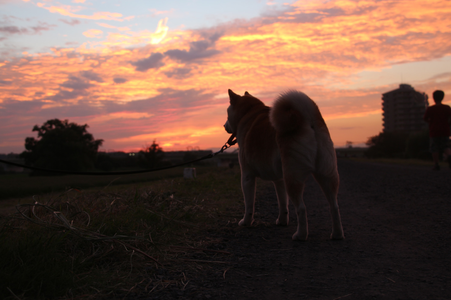
[(400, 83), (450, 104), (450, 0), (0, 0), (0, 153), (53, 118), (110, 151), (217, 149), (229, 88), (301, 90), (361, 144)]

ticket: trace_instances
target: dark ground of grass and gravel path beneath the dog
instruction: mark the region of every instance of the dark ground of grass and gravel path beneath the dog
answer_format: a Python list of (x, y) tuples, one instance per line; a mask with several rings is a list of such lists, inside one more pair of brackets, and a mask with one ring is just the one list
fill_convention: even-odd
[(42, 193), (46, 206), (1, 219), (0, 298), (450, 299), (451, 171), (343, 159), (339, 172), (343, 241), (329, 240), (312, 178), (307, 242), (291, 240), (291, 205), (290, 224), (275, 225), (275, 191), (263, 181), (255, 223), (237, 225), (236, 167)]

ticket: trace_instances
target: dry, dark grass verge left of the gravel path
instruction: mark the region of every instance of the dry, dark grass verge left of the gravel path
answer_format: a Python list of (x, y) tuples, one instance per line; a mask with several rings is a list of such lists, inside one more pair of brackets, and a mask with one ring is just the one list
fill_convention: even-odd
[[(243, 205), (239, 168), (34, 200), (0, 219), (0, 299), (124, 298), (138, 284), (152, 293), (159, 269), (190, 268), (187, 253), (225, 255), (205, 230)], [(183, 285), (179, 274), (164, 284)]]

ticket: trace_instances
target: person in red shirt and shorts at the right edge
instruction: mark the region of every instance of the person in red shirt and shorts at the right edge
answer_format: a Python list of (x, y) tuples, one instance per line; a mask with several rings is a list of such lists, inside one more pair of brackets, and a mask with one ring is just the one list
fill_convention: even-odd
[(424, 113), (424, 121), (429, 123), (429, 150), (432, 152), (434, 161), (433, 170), (440, 170), (438, 165), (440, 152), (445, 154), (451, 168), (451, 149), (450, 149), (450, 125), (451, 125), (451, 107), (442, 104), (445, 93), (442, 90), (436, 90), (433, 93), (435, 105), (429, 106)]

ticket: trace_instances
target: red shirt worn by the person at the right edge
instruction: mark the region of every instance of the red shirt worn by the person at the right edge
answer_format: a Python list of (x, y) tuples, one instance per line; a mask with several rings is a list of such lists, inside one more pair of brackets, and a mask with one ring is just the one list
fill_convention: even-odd
[(429, 123), (429, 136), (450, 136), (451, 107), (446, 104), (435, 104), (426, 109), (423, 117)]

